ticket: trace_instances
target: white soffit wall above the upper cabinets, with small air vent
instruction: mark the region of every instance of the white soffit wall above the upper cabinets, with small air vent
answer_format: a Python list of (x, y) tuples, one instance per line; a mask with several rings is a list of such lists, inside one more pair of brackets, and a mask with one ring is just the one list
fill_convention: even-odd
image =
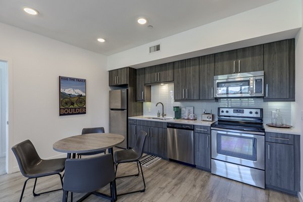
[[(300, 5), (300, 0), (280, 0), (111, 55), (108, 57), (108, 70), (126, 66), (136, 67), (138, 64), (149, 61), (157, 63), (157, 60), (165, 58), (167, 59), (167, 61), (164, 60), (165, 62), (171, 62), (176, 60), (174, 56), (186, 53), (197, 52), (196, 56), (201, 56), (226, 49), (285, 39), (289, 36), (284, 33), (286, 30), (301, 27), (300, 7), (298, 5)], [(274, 33), (276, 35), (272, 36)], [(240, 42), (235, 43), (238, 41)], [(148, 47), (159, 43), (161, 43), (161, 52), (148, 54)], [(224, 44), (228, 45), (222, 46)], [(184, 57), (190, 58), (189, 56), (195, 57), (194, 54)], [(162, 61), (162, 63), (164, 62)], [(148, 65), (145, 64), (145, 66)], [(145, 66), (141, 65), (141, 67)]]

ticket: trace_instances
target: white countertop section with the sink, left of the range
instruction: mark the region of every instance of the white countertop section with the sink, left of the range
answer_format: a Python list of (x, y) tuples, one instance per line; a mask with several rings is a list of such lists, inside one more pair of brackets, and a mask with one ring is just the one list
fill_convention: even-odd
[[(137, 120), (144, 120), (144, 121), (160, 121), (160, 122), (167, 122), (167, 123), (184, 123), (184, 124), (192, 124), (192, 125), (200, 125), (200, 126), (211, 126), (212, 123), (215, 121), (200, 121), (200, 120), (185, 120), (185, 119), (169, 119), (169, 120), (160, 120), (160, 119), (147, 119), (147, 117), (153, 116), (137, 116), (137, 117), (128, 117), (129, 119), (137, 119)], [(157, 117), (155, 117), (157, 118)], [(169, 118), (169, 117), (165, 117)]]

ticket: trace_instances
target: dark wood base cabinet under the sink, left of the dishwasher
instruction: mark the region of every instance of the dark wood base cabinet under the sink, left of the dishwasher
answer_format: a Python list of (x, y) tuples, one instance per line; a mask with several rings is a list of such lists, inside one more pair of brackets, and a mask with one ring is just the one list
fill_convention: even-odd
[(147, 133), (144, 152), (167, 158), (166, 122), (137, 120), (137, 134), (140, 130)]

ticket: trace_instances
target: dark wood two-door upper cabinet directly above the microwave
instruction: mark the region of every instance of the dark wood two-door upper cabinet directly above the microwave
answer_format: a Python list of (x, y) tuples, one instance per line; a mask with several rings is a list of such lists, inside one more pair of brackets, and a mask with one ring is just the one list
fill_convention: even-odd
[(215, 75), (263, 71), (263, 44), (215, 54)]

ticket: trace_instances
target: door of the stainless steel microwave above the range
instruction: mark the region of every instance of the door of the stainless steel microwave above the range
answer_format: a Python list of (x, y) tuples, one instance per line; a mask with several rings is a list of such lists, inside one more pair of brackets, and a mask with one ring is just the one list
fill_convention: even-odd
[(215, 97), (254, 96), (254, 77), (214, 80)]

